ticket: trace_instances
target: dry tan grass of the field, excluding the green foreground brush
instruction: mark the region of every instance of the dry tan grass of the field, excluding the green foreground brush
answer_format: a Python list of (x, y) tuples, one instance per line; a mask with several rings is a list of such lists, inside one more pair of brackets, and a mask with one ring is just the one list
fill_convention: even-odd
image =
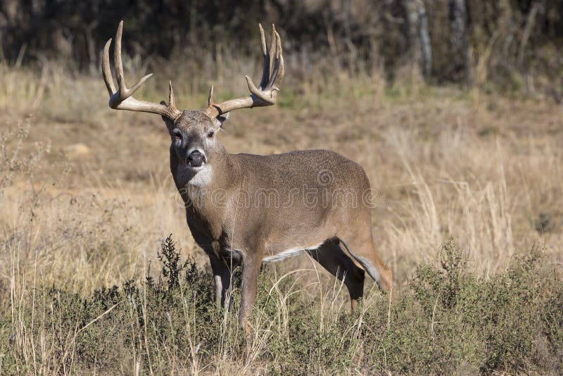
[[(194, 83), (188, 75), (180, 75), (174, 80), (177, 103), (203, 106), (202, 88), (211, 82), (217, 95), (243, 93), (241, 73), (254, 72), (254, 66), (248, 62), (229, 65), (222, 74), (229, 77), (225, 80), (236, 80), (231, 86), (221, 77), (203, 77)], [(139, 68), (135, 75), (141, 72)], [(308, 79), (290, 79), (277, 108), (235, 113), (220, 135), (221, 142), (231, 153), (322, 148), (358, 161), (379, 192), (372, 227), (379, 251), (395, 273), (396, 299), (406, 294), (417, 266), (435, 261), (440, 245), (450, 237), (467, 258), (467, 268), (483, 281), (504, 272), (514, 253), (528, 253), (533, 244), (543, 247), (541, 263), (561, 270), (562, 106), (479, 90), (429, 87), (416, 80), (391, 85), (377, 74), (301, 74)], [(291, 70), (287, 75), (291, 76)], [(168, 77), (174, 76), (159, 73), (151, 80), (162, 81), (160, 85)], [(49, 346), (58, 345), (39, 344), (41, 331), (29, 332), (24, 316), (34, 304), (33, 287), (56, 284), (87, 296), (103, 286), (139, 280), (149, 263), (153, 270), (159, 269), (156, 252), (170, 233), (182, 249), (182, 258), (194, 256), (202, 269), (209, 269), (208, 261), (191, 239), (184, 211), (177, 204), (168, 168), (170, 139), (160, 118), (110, 111), (97, 75), (72, 76), (54, 65), (40, 75), (0, 65), (0, 80), (0, 123), (6, 132), (0, 150), (0, 313), (6, 326), (0, 332), (8, 337), (14, 334), (9, 341), (0, 339), (0, 357), (4, 364), (12, 364), (11, 372), (16, 368), (17, 372), (87, 372), (72, 361), (69, 365), (65, 358), (75, 345), (63, 346), (65, 356), (57, 358)], [(149, 86), (138, 96), (156, 101), (165, 94), (163, 86)], [(312, 261), (304, 257), (275, 265), (266, 279), (275, 281), (295, 267), (302, 271), (289, 278), (303, 290), (298, 292), (300, 299), (334, 294), (334, 280), (324, 272), (319, 277)], [(379, 292), (367, 291), (372, 302), (381, 303)], [(329, 299), (338, 308), (327, 309), (338, 316), (346, 311), (347, 299), (341, 291)], [(324, 309), (315, 307), (311, 309)], [(262, 323), (269, 320), (258, 316)], [(39, 316), (34, 320), (40, 320)], [(203, 371), (274, 372), (279, 365), (268, 363), (270, 358), (263, 356), (266, 339), (257, 338), (251, 351), (255, 358), (243, 363), (247, 368), (237, 368), (235, 355), (223, 355), (215, 365), (217, 360), (230, 365)], [(21, 358), (10, 363), (14, 346), (19, 346), (16, 352)], [(557, 356), (550, 351), (545, 356)], [(44, 358), (37, 355), (42, 360), (36, 359), (36, 353)], [(153, 367), (163, 371), (168, 366), (172, 372), (187, 372), (201, 370), (198, 366), (208, 362), (157, 366), (150, 359), (136, 361), (134, 355), (121, 361), (120, 368), (101, 365), (101, 372), (134, 373), (135, 368), (153, 372)], [(469, 363), (455, 369), (479, 370)], [(315, 372), (332, 369), (319, 364)], [(527, 370), (511, 367), (505, 364), (509, 372)], [(561, 370), (557, 368), (561, 365), (550, 367), (547, 371)], [(357, 363), (334, 369), (370, 370), (361, 356)], [(378, 372), (384, 369), (377, 368)], [(388, 365), (388, 369), (393, 367)]]

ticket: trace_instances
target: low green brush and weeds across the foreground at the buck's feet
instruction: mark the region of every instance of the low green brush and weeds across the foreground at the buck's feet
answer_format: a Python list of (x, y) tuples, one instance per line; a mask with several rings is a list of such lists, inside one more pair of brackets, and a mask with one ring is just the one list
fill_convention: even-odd
[(91, 294), (39, 281), (13, 290), (1, 307), (2, 373), (562, 370), (563, 284), (537, 246), (484, 279), (449, 240), (391, 306), (372, 292), (352, 314), (335, 299), (339, 284), (306, 296), (265, 268), (251, 339), (236, 322), (237, 290), (231, 313), (217, 309), (211, 276), (170, 237), (158, 258), (158, 272)]

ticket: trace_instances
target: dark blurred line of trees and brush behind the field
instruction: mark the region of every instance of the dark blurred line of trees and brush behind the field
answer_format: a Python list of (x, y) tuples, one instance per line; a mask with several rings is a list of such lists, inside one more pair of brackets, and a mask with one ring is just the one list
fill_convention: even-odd
[(432, 83), (561, 101), (562, 18), (560, 0), (4, 0), (0, 60), (47, 58), (97, 72), (124, 19), (128, 54), (151, 69), (173, 59), (196, 70), (208, 67), (208, 55), (256, 56), (256, 24), (276, 23), (293, 70), (379, 70), (393, 80), (410, 67)]

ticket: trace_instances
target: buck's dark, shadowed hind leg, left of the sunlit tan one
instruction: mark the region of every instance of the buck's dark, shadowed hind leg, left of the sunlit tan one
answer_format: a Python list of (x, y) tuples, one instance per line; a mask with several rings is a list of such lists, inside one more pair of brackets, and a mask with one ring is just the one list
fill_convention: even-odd
[(358, 299), (364, 296), (365, 272), (341, 249), (337, 240), (329, 240), (318, 249), (309, 249), (309, 255), (332, 275), (343, 280), (350, 293), (352, 311), (358, 306)]

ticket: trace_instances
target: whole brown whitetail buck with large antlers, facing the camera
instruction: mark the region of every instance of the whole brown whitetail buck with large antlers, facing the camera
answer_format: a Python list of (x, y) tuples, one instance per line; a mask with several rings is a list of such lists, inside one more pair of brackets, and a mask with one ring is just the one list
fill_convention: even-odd
[(258, 289), (260, 263), (304, 252), (344, 281), (352, 308), (363, 295), (365, 271), (380, 288), (391, 289), (391, 270), (379, 258), (372, 241), (372, 210), (365, 202), (371, 189), (360, 165), (327, 150), (272, 156), (229, 154), (217, 139), (230, 111), (276, 103), (284, 59), (273, 25), (269, 48), (260, 25), (264, 58), (260, 85), (256, 87), (246, 76), (251, 95), (221, 103), (213, 101), (211, 87), (208, 108), (201, 111), (179, 111), (172, 84), (168, 104), (133, 98), (151, 75), (130, 88), (125, 85), (122, 27), (121, 22), (115, 35), (117, 89), (109, 61), (111, 39), (103, 49), (102, 72), (110, 94), (109, 106), (162, 116), (172, 138), (172, 177), (182, 195), (191, 234), (209, 256), (217, 303), (224, 304), (232, 270), (241, 266), (239, 322), (248, 332), (247, 318)]

